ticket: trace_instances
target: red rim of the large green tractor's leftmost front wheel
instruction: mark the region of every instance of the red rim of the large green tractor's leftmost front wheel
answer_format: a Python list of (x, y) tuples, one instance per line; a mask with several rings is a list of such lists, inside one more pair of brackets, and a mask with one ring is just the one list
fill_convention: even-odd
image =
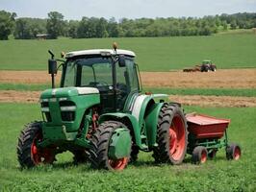
[(41, 135), (37, 134), (31, 145), (31, 158), (36, 165), (39, 163), (51, 163), (54, 160), (52, 150), (38, 149), (37, 141), (41, 139)]

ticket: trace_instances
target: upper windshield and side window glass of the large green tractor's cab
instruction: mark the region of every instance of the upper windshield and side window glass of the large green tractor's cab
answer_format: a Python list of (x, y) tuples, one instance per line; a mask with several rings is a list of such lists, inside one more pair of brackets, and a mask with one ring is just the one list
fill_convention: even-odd
[[(139, 90), (139, 80), (134, 60), (126, 59), (126, 65), (117, 63), (116, 88), (125, 92)], [(113, 89), (113, 65), (111, 58), (82, 58), (67, 60), (64, 70), (64, 86), (90, 86), (99, 90)]]

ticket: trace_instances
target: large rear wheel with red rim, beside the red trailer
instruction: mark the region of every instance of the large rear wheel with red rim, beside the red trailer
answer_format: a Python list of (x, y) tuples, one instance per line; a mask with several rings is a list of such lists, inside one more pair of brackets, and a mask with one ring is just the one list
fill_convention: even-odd
[(187, 121), (177, 104), (164, 104), (159, 114), (158, 147), (154, 149), (156, 162), (182, 163), (188, 144)]

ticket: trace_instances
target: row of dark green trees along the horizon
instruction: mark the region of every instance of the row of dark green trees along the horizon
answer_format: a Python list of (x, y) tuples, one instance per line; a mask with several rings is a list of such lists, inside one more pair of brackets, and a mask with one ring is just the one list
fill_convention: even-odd
[(256, 12), (223, 13), (200, 18), (122, 18), (118, 22), (115, 18), (86, 16), (81, 20), (64, 20), (60, 12), (49, 12), (46, 19), (15, 18), (15, 12), (0, 11), (0, 39), (8, 39), (11, 34), (16, 39), (32, 39), (38, 34), (47, 34), (48, 38), (210, 36), (228, 29), (256, 27)]

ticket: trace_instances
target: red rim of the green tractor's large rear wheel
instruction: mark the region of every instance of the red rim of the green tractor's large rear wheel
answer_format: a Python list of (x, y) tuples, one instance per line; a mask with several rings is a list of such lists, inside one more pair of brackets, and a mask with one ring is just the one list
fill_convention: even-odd
[(180, 160), (186, 148), (186, 132), (183, 119), (176, 115), (172, 119), (169, 133), (169, 155), (174, 160)]

